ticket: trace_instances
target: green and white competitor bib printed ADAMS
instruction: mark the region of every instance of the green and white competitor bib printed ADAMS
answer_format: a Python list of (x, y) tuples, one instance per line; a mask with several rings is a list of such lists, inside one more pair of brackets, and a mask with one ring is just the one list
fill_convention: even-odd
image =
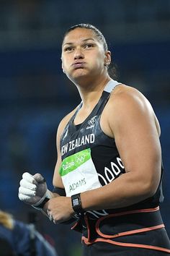
[(67, 197), (102, 187), (97, 170), (91, 159), (90, 148), (65, 158), (61, 164), (59, 174), (61, 175)]

